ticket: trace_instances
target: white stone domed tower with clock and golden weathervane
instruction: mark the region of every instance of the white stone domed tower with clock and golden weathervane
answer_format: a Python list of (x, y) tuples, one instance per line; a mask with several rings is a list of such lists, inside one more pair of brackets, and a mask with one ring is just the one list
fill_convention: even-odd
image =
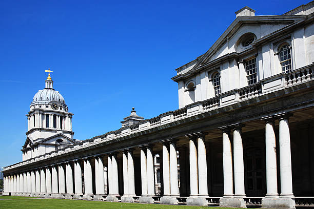
[(23, 160), (71, 146), (77, 141), (73, 139), (72, 113), (63, 96), (53, 89), (53, 81), (49, 75), (45, 89), (39, 90), (30, 104), (27, 116), (28, 131), (23, 145)]

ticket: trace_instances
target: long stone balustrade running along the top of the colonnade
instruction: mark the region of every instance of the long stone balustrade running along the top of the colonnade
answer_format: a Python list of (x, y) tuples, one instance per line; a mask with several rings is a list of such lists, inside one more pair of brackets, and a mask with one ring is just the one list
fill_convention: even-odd
[(309, 66), (305, 66), (303, 68), (300, 68), (300, 69), (297, 69), (288, 73), (280, 73), (277, 75), (273, 75), (271, 77), (260, 80), (259, 82), (254, 83), (253, 85), (250, 85), (241, 89), (234, 89), (225, 93), (221, 93), (218, 96), (215, 96), (210, 99), (194, 102), (190, 105), (185, 106), (184, 108), (163, 113), (157, 117), (143, 120), (132, 126), (123, 127), (119, 130), (111, 131), (103, 135), (95, 136), (91, 139), (84, 140), (81, 143), (77, 143), (73, 145), (72, 147), (67, 147), (61, 150), (52, 151), (50, 153), (46, 153), (44, 155), (40, 155), (35, 158), (18, 162), (16, 164), (5, 167), (4, 171), (10, 170), (10, 169), (13, 169), (13, 168), (16, 168), (18, 166), (22, 166), (28, 163), (32, 163), (38, 160), (50, 158), (56, 155), (62, 155), (64, 153), (71, 152), (74, 150), (80, 150), (83, 148), (85, 149), (91, 144), (102, 143), (104, 141), (110, 141), (112, 139), (124, 137), (129, 134), (136, 133), (136, 132), (141, 132), (144, 130), (149, 130), (151, 128), (163, 126), (166, 123), (170, 123), (176, 120), (182, 120), (192, 115), (197, 115), (203, 112), (211, 111), (213, 109), (228, 106), (233, 103), (242, 102), (244, 100), (251, 99), (259, 95), (267, 94), (268, 92), (271, 92), (271, 91), (277, 91), (282, 88), (299, 85), (300, 83), (313, 80), (314, 79), (313, 71), (314, 71), (314, 64), (311, 64)]

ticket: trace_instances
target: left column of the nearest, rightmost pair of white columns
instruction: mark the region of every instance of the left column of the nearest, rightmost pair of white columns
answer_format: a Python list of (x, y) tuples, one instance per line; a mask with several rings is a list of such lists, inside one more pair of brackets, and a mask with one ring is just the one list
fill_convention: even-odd
[(276, 136), (274, 133), (274, 118), (272, 116), (262, 118), (265, 124), (265, 148), (266, 148), (266, 196), (278, 197), (277, 190), (277, 158)]

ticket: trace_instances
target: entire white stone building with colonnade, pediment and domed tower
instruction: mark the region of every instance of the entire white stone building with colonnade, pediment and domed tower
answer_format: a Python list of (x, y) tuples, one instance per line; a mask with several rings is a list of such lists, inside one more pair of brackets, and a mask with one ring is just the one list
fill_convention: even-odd
[(5, 194), (314, 205), (314, 2), (283, 15), (255, 16), (248, 7), (235, 14), (205, 54), (176, 69), (178, 110), (150, 119), (132, 112), (121, 129), (76, 141), (63, 97), (43, 101), (38, 92), (27, 115), (27, 157), (4, 168)]

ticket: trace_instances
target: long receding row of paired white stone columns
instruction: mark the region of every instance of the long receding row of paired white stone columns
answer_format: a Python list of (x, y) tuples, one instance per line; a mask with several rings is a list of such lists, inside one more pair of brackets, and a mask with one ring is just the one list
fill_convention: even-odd
[[(261, 118), (265, 121), (265, 148), (266, 148), (266, 188), (265, 198), (293, 197), (291, 150), (288, 117), (291, 114), (278, 114)], [(274, 121), (279, 120), (279, 147), (280, 147), (280, 183), (281, 193), (277, 188), (277, 152)], [(221, 127), (223, 144), (223, 180), (224, 195), (221, 205), (230, 205), (229, 199), (243, 200), (245, 197), (244, 158), (242, 144), (242, 128), (244, 124), (231, 124)], [(232, 135), (231, 135), (232, 133)], [(188, 204), (195, 204), (193, 198), (206, 204), (207, 188), (207, 159), (205, 147), (205, 132), (186, 135), (189, 140), (189, 178), (190, 196)], [(233, 137), (231, 139), (231, 136)], [(160, 141), (162, 143), (162, 174), (163, 197), (179, 197), (178, 164), (176, 139)], [(119, 196), (119, 161), (117, 153), (106, 154), (108, 157), (108, 194), (107, 197)], [(141, 190), (142, 196), (155, 196), (153, 144), (140, 146), (141, 163)], [(45, 194), (43, 196), (74, 199), (103, 199), (104, 191), (104, 155), (93, 156), (94, 179), (92, 173), (92, 158), (77, 159), (71, 162), (45, 166), (44, 168), (27, 171), (21, 174), (5, 176), (5, 192), (24, 194)], [(122, 150), (123, 191), (122, 200), (132, 201), (135, 196), (133, 149)], [(83, 161), (83, 162), (82, 162)], [(82, 175), (82, 166), (84, 175)], [(82, 176), (84, 178), (82, 178)], [(84, 187), (83, 187), (84, 185)], [(95, 188), (93, 188), (95, 185)], [(95, 194), (93, 193), (95, 189)], [(108, 198), (107, 198), (108, 199)], [(190, 200), (189, 200), (190, 199)], [(115, 198), (112, 199), (116, 200)], [(141, 199), (140, 199), (141, 200)], [(168, 199), (166, 199), (168, 201)], [(165, 201), (165, 202), (167, 202)], [(151, 202), (149, 200), (148, 202)], [(162, 202), (162, 200), (161, 200)], [(173, 201), (170, 201), (173, 203)], [(197, 203), (198, 204), (198, 203)]]

